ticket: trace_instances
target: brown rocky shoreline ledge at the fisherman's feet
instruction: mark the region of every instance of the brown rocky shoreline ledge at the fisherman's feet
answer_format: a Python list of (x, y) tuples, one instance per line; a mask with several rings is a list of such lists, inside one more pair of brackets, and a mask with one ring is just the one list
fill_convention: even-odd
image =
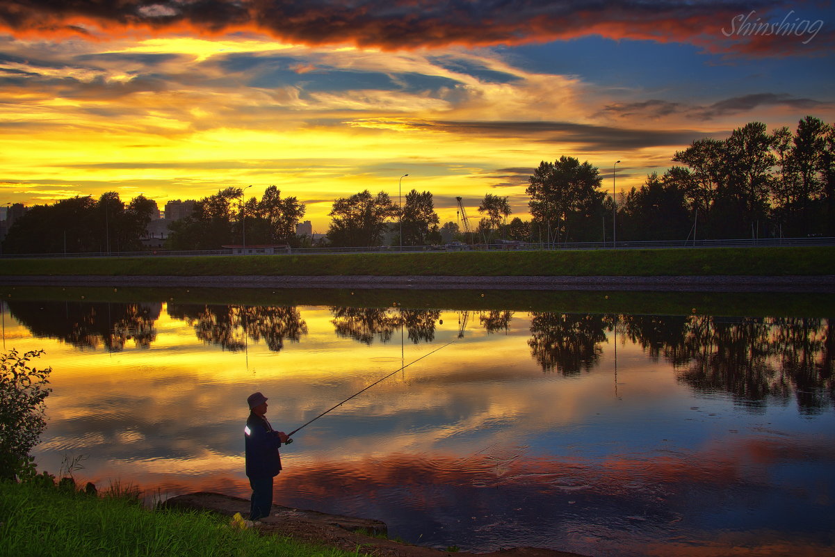
[[(166, 500), (164, 506), (172, 509), (208, 510), (230, 517), (235, 513), (246, 516), (250, 510), (248, 499), (208, 492), (179, 495)], [(261, 519), (254, 528), (261, 534), (278, 534), (309, 544), (337, 547), (349, 552), (358, 550), (359, 553), (378, 557), (583, 557), (554, 549), (530, 547), (473, 554), (402, 544), (383, 537), (387, 534), (387, 526), (380, 520), (292, 509), (277, 504), (272, 506), (270, 516)]]

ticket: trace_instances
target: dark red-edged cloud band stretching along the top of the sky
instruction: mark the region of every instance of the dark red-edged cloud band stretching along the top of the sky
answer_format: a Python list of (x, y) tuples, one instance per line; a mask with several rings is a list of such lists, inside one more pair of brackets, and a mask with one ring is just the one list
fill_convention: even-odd
[[(734, 36), (729, 41), (721, 33), (722, 26), (752, 9), (767, 17), (795, 4), (721, 0), (7, 0), (0, 6), (0, 29), (37, 36), (99, 33), (91, 26), (116, 34), (137, 28), (174, 33), (258, 31), (294, 43), (380, 48), (519, 44), (597, 35), (697, 43), (715, 50), (766, 55), (785, 52), (784, 43), (792, 38)], [(814, 45), (807, 48), (812, 50)]]

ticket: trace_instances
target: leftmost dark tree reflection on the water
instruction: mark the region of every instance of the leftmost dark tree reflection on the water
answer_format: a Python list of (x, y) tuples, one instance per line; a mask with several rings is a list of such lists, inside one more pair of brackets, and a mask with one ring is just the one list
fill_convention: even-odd
[(119, 352), (132, 341), (147, 348), (156, 340), (154, 322), (162, 304), (89, 301), (6, 302), (11, 315), (35, 337), (57, 338), (78, 348)]

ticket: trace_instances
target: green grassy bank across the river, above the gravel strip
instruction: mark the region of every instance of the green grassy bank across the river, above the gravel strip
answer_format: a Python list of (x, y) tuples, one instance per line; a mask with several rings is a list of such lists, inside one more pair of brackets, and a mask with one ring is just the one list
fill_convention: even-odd
[(0, 274), (104, 276), (835, 275), (835, 247), (5, 259)]

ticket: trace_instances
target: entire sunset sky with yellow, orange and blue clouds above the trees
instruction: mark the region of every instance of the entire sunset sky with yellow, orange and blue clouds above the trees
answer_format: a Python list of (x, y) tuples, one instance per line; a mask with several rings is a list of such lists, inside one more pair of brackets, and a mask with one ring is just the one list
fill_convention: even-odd
[(611, 190), (694, 139), (835, 122), (829, 2), (120, 0), (0, 4), (0, 205), (269, 185), (487, 193), (528, 218), (541, 160)]

